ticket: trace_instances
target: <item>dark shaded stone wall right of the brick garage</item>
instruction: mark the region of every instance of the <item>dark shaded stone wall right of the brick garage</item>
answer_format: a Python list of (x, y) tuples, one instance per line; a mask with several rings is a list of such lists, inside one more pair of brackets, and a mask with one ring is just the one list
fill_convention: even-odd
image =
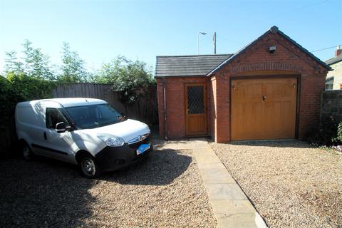
[(326, 90), (321, 93), (321, 118), (329, 115), (342, 121), (342, 90)]

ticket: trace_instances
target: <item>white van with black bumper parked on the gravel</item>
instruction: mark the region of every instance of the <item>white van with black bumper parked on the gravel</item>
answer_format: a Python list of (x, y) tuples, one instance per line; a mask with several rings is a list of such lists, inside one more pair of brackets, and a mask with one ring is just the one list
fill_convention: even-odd
[(18, 103), (16, 133), (26, 160), (43, 155), (71, 162), (88, 178), (130, 165), (152, 150), (145, 123), (93, 98)]

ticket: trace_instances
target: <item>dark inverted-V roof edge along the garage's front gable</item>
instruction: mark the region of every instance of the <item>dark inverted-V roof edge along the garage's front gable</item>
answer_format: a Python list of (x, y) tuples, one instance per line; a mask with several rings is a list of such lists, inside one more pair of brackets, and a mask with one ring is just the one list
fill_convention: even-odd
[(240, 51), (238, 51), (237, 53), (234, 53), (234, 55), (230, 56), (229, 58), (227, 58), (227, 60), (225, 60), (223, 63), (219, 64), (219, 66), (217, 66), (216, 68), (214, 68), (212, 71), (210, 71), (207, 76), (212, 75), (213, 73), (219, 71), (219, 69), (221, 69), (222, 67), (226, 66), (228, 63), (232, 62), (234, 60), (234, 58), (237, 58), (237, 56), (240, 56), (242, 53), (244, 53), (245, 51), (247, 51), (251, 46), (254, 45), (254, 43), (257, 43), (257, 41), (260, 41), (261, 38), (264, 38), (264, 36), (268, 35), (269, 33), (279, 33), (279, 35), (283, 36), (284, 38), (286, 38), (286, 40), (290, 41), (291, 43), (293, 43), (297, 48), (301, 49), (301, 51), (304, 51), (304, 53), (308, 54), (309, 56), (311, 56), (311, 58), (314, 58), (315, 61), (317, 61), (318, 63), (320, 63), (323, 67), (327, 68), (329, 71), (331, 70), (331, 67), (328, 66), (326, 63), (324, 63), (323, 61), (321, 61), (319, 58), (317, 58), (316, 56), (314, 56), (313, 53), (311, 53), (310, 51), (306, 50), (306, 48), (303, 48), (299, 43), (297, 43), (296, 41), (294, 41), (293, 39), (291, 39), (289, 36), (287, 36), (285, 33), (283, 33), (282, 31), (279, 30), (279, 28), (277, 26), (272, 26), (268, 31), (266, 31), (266, 33), (262, 34), (261, 36), (259, 36), (259, 38), (257, 38), (256, 40), (254, 40), (252, 43), (249, 43), (247, 46), (244, 46), (244, 48), (242, 48)]

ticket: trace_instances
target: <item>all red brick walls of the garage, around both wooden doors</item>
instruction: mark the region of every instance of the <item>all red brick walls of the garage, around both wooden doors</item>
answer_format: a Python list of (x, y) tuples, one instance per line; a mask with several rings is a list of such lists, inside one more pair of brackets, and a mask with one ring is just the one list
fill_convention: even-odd
[[(269, 46), (276, 46), (269, 53)], [(327, 70), (278, 33), (269, 33), (240, 56), (211, 76), (165, 78), (167, 136), (185, 136), (184, 84), (207, 82), (208, 133), (215, 142), (230, 140), (230, 79), (239, 76), (299, 76), (298, 138), (304, 138), (318, 124), (320, 94), (324, 90)], [(165, 136), (164, 93), (162, 78), (157, 78), (160, 135)]]

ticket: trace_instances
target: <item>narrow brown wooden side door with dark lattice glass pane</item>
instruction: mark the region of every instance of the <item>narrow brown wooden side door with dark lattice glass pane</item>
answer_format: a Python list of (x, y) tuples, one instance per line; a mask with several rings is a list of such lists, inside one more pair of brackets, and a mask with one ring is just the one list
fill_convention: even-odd
[(205, 83), (185, 84), (186, 135), (207, 135), (206, 98)]

